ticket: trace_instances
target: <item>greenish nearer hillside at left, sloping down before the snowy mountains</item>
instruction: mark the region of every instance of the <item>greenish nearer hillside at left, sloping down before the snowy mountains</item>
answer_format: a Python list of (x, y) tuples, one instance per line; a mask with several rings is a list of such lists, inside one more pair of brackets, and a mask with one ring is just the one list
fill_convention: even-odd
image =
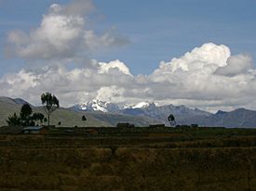
[[(20, 108), (24, 103), (28, 103), (22, 99), (12, 99), (9, 97), (0, 97), (0, 126), (7, 125), (8, 116), (14, 112), (20, 113)], [(45, 114), (43, 107), (32, 106), (34, 112), (41, 112)], [(82, 121), (82, 116), (87, 117), (87, 121)], [(142, 116), (131, 116), (131, 115), (120, 115), (120, 114), (108, 114), (102, 112), (89, 112), (83, 110), (72, 110), (69, 108), (60, 108), (52, 113), (51, 124), (57, 125), (61, 121), (61, 126), (115, 126), (119, 121), (126, 121), (135, 124), (136, 126), (146, 126), (151, 123), (159, 123), (155, 119), (142, 117)]]

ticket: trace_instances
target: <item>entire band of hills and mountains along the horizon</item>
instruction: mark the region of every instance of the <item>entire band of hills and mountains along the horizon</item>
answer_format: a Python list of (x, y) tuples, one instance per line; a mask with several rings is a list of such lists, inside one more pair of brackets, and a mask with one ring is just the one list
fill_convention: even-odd
[[(12, 99), (0, 97), (0, 126), (7, 125), (7, 117), (14, 112), (20, 113), (22, 104), (27, 103), (20, 98)], [(140, 107), (139, 107), (140, 106)], [(42, 107), (34, 107), (34, 112), (44, 112)], [(200, 126), (222, 126), (222, 127), (256, 127), (256, 111), (245, 108), (226, 112), (218, 111), (215, 114), (200, 110), (186, 108), (185, 106), (161, 106), (157, 107), (154, 103), (143, 103), (136, 107), (119, 107), (111, 103), (94, 102), (88, 106), (83, 105), (79, 108), (60, 108), (52, 115), (51, 124), (61, 126), (115, 126), (119, 121), (130, 122), (136, 126), (147, 126), (155, 123), (166, 123), (168, 125), (168, 114), (172, 113), (178, 124), (196, 123)], [(99, 109), (99, 110), (97, 110)], [(110, 110), (112, 112), (110, 112)], [(82, 121), (85, 115), (88, 121)]]

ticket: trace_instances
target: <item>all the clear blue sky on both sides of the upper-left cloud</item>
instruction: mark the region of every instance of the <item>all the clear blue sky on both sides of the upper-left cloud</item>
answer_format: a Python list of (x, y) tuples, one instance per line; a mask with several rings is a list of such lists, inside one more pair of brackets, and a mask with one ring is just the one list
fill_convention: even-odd
[[(0, 72), (19, 70), (24, 60), (3, 55), (7, 32), (29, 32), (36, 28), (42, 15), (53, 3), (69, 1), (0, 1)], [(95, 52), (99, 61), (120, 59), (133, 74), (148, 74), (161, 60), (180, 57), (195, 46), (213, 42), (228, 45), (233, 54), (249, 53), (256, 57), (256, 2), (254, 0), (108, 0), (93, 1), (97, 16), (92, 27), (101, 30), (116, 28), (129, 43), (109, 51)]]

